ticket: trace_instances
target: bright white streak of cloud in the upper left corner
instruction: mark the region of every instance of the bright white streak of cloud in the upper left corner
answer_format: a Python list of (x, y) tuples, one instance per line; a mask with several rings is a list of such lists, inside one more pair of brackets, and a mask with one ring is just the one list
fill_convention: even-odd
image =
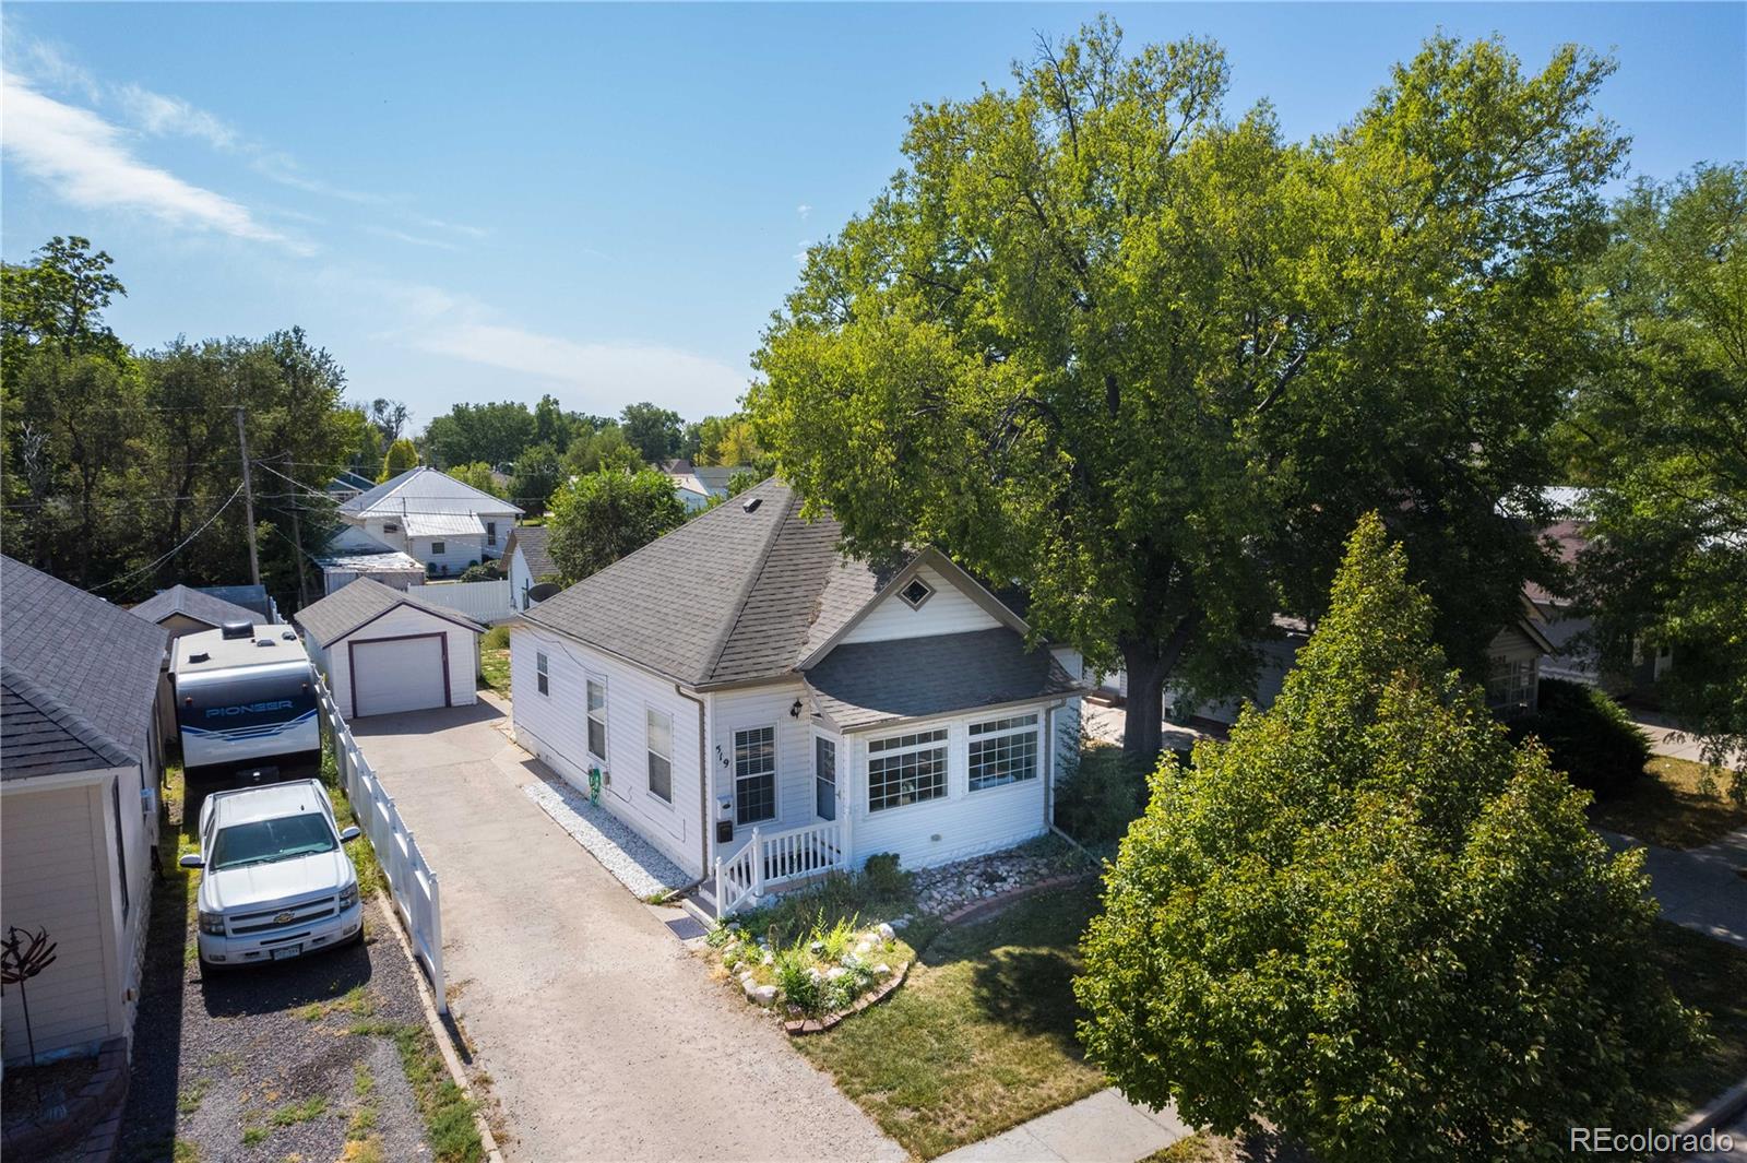
[(175, 225), (311, 253), (306, 243), (260, 224), (241, 203), (140, 161), (122, 131), (91, 110), (44, 96), (10, 73), (0, 80), (7, 155), (75, 206), (143, 211)]

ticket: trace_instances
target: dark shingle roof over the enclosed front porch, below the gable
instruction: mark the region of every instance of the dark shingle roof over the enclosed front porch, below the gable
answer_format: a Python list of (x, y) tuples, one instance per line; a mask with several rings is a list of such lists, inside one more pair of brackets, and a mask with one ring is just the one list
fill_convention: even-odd
[(1027, 651), (1008, 627), (846, 643), (805, 674), (819, 711), (846, 730), (1081, 690), (1046, 648)]

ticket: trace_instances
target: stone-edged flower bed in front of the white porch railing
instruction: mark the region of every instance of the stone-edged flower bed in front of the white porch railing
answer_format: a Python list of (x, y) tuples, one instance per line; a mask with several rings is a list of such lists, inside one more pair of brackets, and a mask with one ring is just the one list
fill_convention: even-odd
[(821, 920), (786, 946), (730, 920), (711, 931), (709, 945), (746, 999), (790, 1018), (797, 1034), (828, 1029), (889, 994), (915, 957), (891, 926), (860, 927), (853, 917), (830, 927)]

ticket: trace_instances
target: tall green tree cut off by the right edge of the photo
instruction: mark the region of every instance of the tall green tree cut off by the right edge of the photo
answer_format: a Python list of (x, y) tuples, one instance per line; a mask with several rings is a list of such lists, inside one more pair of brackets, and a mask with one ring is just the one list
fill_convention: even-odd
[(1747, 169), (1640, 183), (1593, 290), (1602, 360), (1565, 424), (1579, 594), (1605, 665), (1674, 653), (1663, 700), (1747, 798)]

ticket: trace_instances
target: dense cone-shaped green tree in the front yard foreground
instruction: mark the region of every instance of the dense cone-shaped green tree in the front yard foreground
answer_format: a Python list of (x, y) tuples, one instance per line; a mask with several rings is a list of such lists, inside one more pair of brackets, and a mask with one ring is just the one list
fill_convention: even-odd
[(1660, 1126), (1695, 1020), (1656, 969), (1642, 852), (1614, 856), (1433, 641), (1373, 515), (1267, 712), (1167, 756), (1074, 983), (1134, 1100), (1326, 1163), (1567, 1158)]

